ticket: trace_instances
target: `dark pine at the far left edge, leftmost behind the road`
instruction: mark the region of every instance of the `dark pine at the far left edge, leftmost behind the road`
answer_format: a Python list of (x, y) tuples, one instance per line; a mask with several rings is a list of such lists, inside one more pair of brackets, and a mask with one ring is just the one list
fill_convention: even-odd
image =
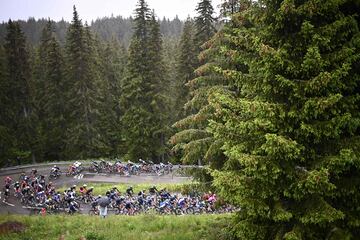
[(33, 93), (29, 54), (24, 33), (17, 22), (9, 20), (5, 39), (6, 74), (2, 79), (4, 114), (1, 124), (9, 136), (12, 157), (27, 157), (35, 162)]

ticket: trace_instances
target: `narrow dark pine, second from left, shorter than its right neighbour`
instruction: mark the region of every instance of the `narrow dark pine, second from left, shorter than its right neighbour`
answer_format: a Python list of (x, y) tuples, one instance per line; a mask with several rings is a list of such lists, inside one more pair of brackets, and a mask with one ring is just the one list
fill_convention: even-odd
[(49, 20), (43, 29), (37, 67), (37, 111), (43, 134), (44, 158), (59, 160), (64, 152), (64, 60)]

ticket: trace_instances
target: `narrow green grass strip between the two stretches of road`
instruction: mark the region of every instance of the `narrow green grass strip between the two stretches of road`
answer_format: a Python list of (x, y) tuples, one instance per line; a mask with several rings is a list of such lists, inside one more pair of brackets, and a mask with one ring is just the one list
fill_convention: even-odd
[[(149, 190), (154, 184), (142, 183), (142, 184), (129, 184), (129, 183), (118, 183), (118, 184), (109, 184), (109, 183), (85, 183), (87, 187), (94, 187), (94, 195), (104, 195), (106, 191), (110, 190), (112, 187), (116, 186), (121, 193), (124, 193), (129, 186), (133, 187), (134, 193), (138, 193), (139, 191), (145, 189), (146, 191)], [(76, 190), (79, 191), (79, 188), (82, 184), (77, 185)], [(158, 190), (166, 188), (169, 192), (178, 192), (188, 194), (190, 189), (196, 190), (196, 183), (179, 183), (179, 184), (156, 184), (155, 185)], [(60, 192), (63, 192), (69, 186), (63, 186), (59, 188)]]

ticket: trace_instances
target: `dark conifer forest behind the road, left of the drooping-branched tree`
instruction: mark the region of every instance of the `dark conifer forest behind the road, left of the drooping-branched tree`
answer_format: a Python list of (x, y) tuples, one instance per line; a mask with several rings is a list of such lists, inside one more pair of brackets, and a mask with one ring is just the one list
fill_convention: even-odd
[[(178, 87), (186, 89), (177, 73), (184, 22), (159, 20), (144, 1), (135, 13), (88, 25), (74, 6), (70, 23), (29, 18), (0, 25), (0, 165), (176, 161), (169, 137), (182, 108)], [(193, 38), (194, 26), (190, 34), (183, 38)]]

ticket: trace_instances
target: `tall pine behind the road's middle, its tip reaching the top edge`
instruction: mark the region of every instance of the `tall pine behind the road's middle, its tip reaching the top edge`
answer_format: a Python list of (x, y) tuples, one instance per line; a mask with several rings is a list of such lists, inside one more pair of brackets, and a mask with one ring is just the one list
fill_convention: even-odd
[[(129, 47), (127, 77), (122, 86), (122, 141), (126, 158), (159, 160), (164, 152), (164, 90), (159, 25), (139, 0)], [(165, 84), (166, 85), (166, 84)]]

